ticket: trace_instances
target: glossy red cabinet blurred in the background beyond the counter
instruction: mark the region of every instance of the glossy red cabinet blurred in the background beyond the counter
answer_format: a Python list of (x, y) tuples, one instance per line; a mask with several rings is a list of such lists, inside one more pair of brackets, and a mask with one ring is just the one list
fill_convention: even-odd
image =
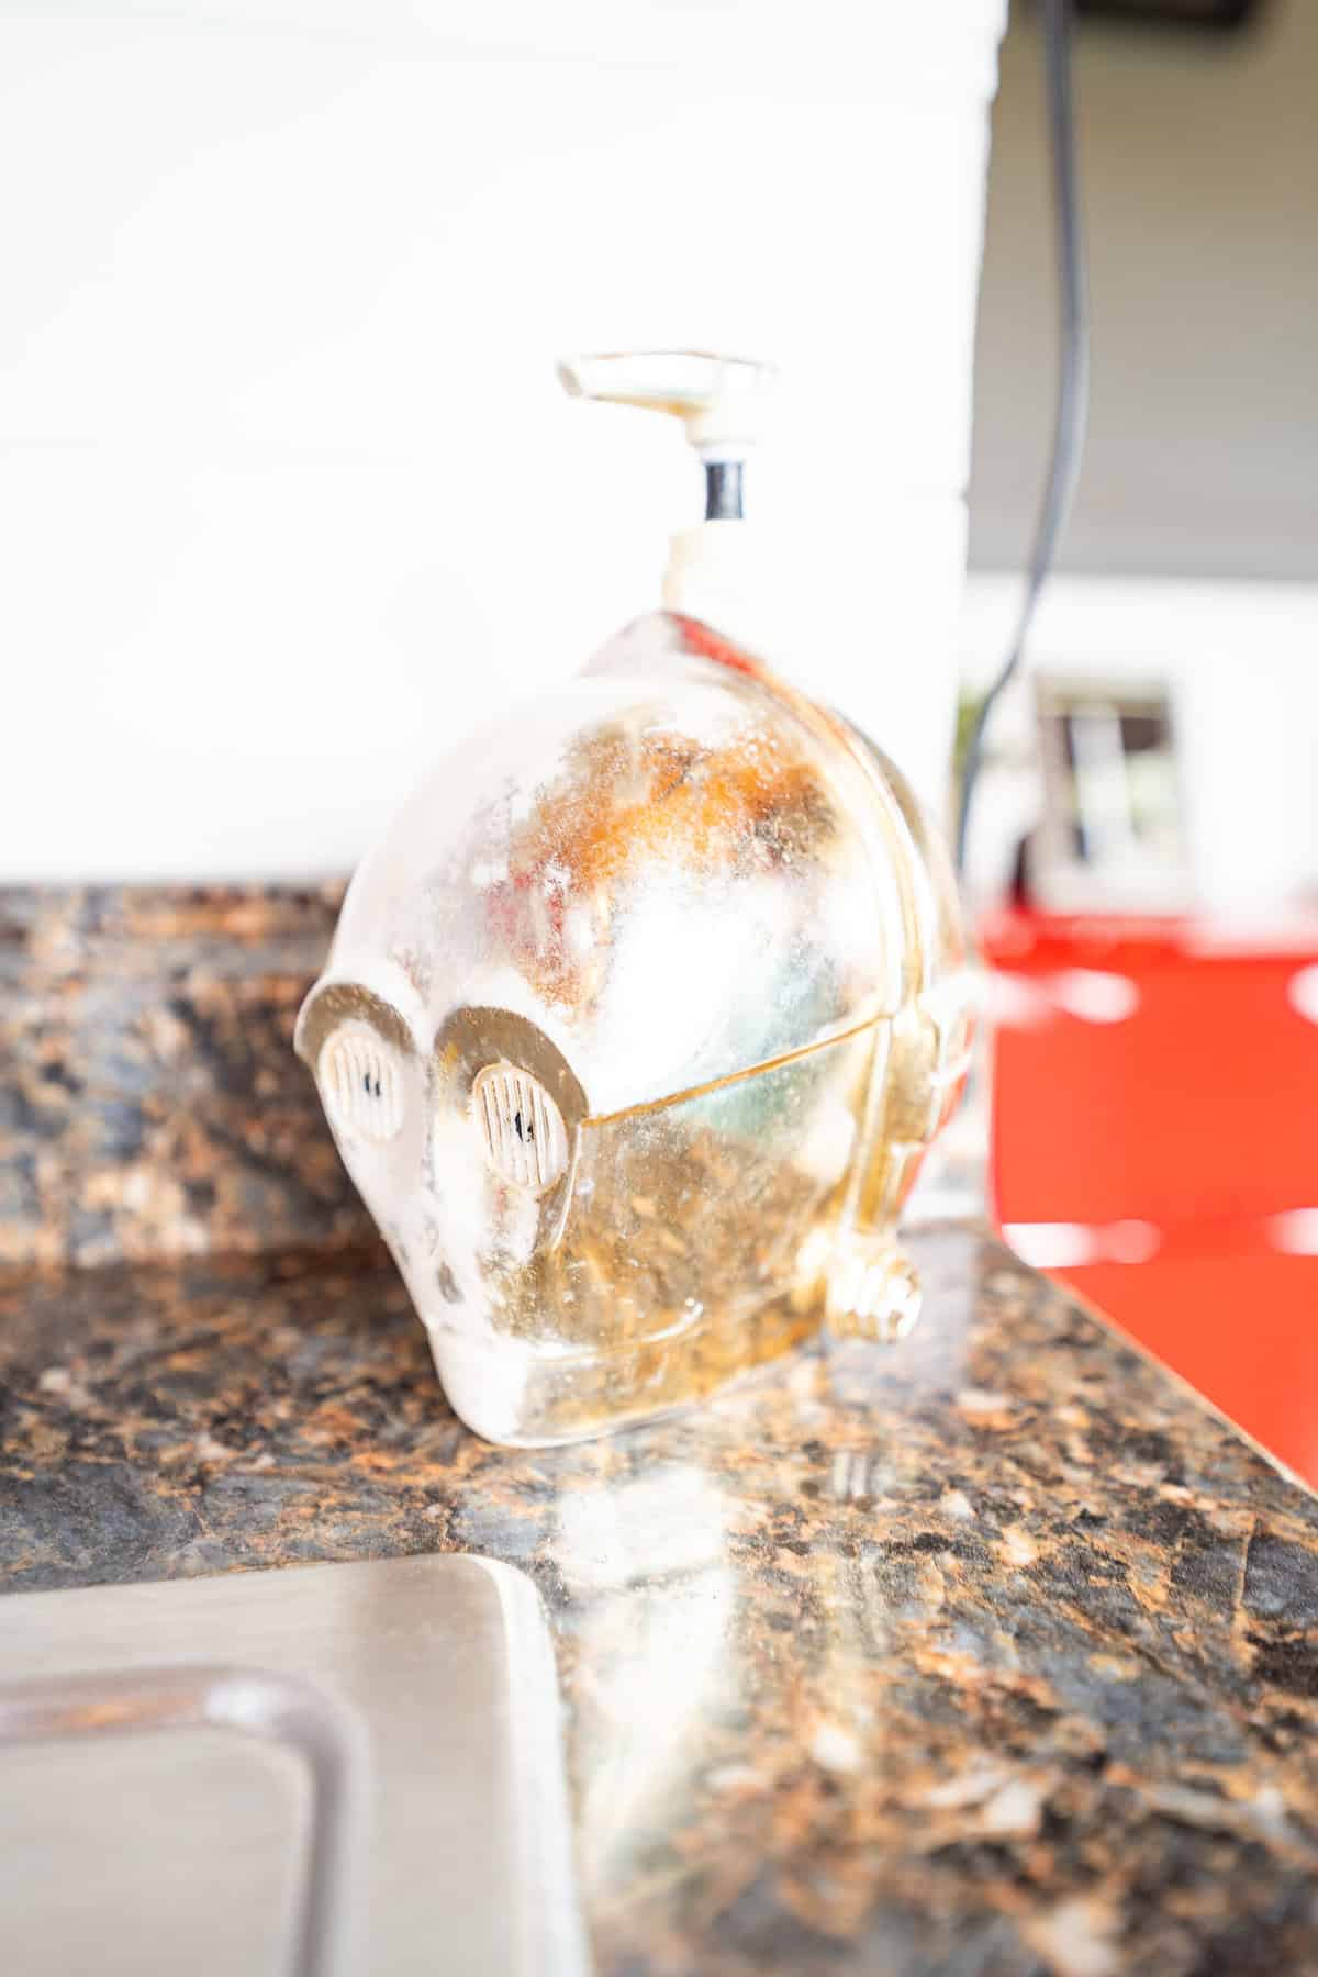
[(1318, 1483), (1318, 1257), (1277, 1220), (1318, 1210), (1318, 1026), (1290, 1000), (1318, 939), (1002, 913), (980, 945), (1008, 977), (1000, 1224), (1030, 1226), (1024, 1253), (1089, 1247), (1051, 1275)]

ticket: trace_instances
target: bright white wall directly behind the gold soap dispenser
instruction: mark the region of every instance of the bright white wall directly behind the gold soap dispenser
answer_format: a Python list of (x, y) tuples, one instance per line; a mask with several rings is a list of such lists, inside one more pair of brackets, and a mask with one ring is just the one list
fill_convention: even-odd
[(571, 348), (777, 358), (759, 518), (933, 793), (1002, 0), (0, 8), (0, 882), (350, 866), (694, 518)]

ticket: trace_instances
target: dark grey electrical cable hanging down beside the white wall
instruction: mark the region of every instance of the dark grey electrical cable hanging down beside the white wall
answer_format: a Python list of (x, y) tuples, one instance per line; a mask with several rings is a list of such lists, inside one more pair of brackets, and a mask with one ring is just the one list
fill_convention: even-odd
[(960, 773), (960, 803), (956, 809), (956, 870), (966, 868), (966, 838), (974, 785), (984, 765), (984, 733), (1002, 690), (1016, 674), (1033, 607), (1053, 565), (1057, 542), (1071, 514), (1075, 482), (1085, 451), (1085, 417), (1089, 411), (1089, 297), (1085, 285), (1085, 239), (1081, 231), (1079, 172), (1075, 162), (1075, 111), (1071, 103), (1071, 0), (1041, 0), (1043, 65), (1047, 73), (1047, 125), (1053, 166), (1053, 223), (1057, 243), (1057, 289), (1061, 302), (1061, 364), (1057, 376), (1057, 413), (1053, 419), (1053, 457), (1043, 486), (1043, 506), (1030, 552), (1026, 595), (1006, 662), (978, 706)]

